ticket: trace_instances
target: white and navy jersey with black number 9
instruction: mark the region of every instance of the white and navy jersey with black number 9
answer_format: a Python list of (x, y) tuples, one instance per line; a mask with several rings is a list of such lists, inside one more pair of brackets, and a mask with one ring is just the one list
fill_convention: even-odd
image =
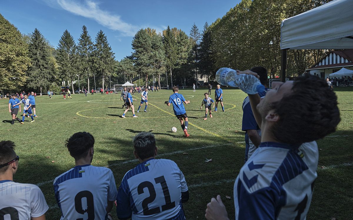
[(115, 201), (113, 172), (105, 167), (75, 166), (54, 180), (61, 219), (105, 219), (107, 200)]

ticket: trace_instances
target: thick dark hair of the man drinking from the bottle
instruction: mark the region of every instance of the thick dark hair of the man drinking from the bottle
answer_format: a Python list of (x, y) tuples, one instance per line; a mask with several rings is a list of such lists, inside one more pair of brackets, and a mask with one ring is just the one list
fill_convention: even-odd
[(326, 81), (310, 74), (295, 78), (292, 92), (271, 108), (280, 117), (272, 127), (275, 138), (292, 145), (324, 138), (341, 120), (335, 93)]

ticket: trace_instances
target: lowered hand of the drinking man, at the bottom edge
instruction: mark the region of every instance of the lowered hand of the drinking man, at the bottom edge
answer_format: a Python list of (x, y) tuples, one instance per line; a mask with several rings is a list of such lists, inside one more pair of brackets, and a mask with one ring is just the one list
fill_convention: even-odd
[(229, 220), (220, 195), (217, 195), (217, 200), (212, 198), (211, 202), (207, 204), (205, 218), (207, 220)]

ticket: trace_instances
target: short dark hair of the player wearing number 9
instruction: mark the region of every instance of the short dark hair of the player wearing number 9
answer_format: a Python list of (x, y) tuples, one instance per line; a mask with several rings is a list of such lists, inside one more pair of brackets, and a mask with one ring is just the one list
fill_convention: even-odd
[(75, 159), (84, 158), (88, 154), (88, 150), (94, 145), (94, 137), (88, 132), (74, 133), (66, 140), (65, 146), (70, 155)]

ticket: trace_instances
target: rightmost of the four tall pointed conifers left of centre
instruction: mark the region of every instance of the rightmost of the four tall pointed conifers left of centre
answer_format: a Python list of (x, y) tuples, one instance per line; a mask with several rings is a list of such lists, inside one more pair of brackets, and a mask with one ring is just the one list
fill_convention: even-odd
[(96, 36), (93, 50), (95, 71), (102, 77), (102, 88), (104, 89), (105, 77), (114, 72), (114, 53), (110, 48), (107, 36), (100, 30)]

